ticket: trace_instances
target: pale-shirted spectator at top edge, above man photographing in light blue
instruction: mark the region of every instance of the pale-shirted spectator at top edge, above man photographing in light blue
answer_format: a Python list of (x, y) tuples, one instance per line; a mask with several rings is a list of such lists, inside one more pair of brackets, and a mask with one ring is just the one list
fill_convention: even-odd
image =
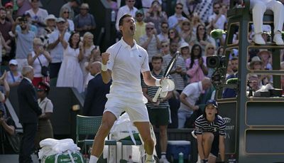
[(40, 9), (38, 6), (39, 0), (31, 0), (31, 9), (26, 11), (30, 14), (33, 25), (38, 28), (38, 36), (43, 35), (45, 27), (45, 18), (48, 17), (48, 11)]

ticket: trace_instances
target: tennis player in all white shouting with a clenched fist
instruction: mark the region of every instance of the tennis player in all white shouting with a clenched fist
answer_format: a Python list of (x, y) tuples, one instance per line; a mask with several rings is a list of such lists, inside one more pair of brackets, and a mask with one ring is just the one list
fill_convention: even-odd
[(122, 38), (102, 53), (102, 80), (108, 83), (112, 78), (107, 103), (92, 147), (90, 163), (97, 162), (104, 148), (104, 139), (109, 135), (114, 121), (126, 111), (137, 127), (146, 150), (146, 162), (154, 162), (155, 142), (151, 137), (150, 122), (141, 88), (141, 73), (148, 86), (160, 86), (162, 80), (154, 78), (148, 65), (148, 53), (134, 41), (136, 25), (130, 14), (119, 20)]

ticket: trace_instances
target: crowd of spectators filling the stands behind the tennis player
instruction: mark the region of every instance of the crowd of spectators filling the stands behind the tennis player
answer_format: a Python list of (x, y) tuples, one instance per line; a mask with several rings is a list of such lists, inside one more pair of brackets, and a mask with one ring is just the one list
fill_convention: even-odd
[[(81, 4), (78, 0), (70, 0), (62, 6), (60, 14), (56, 17), (42, 9), (39, 0), (0, 2), (0, 61), (1, 65), (6, 64), (9, 67), (5, 75), (9, 86), (18, 85), (23, 78), (21, 69), (25, 65), (31, 65), (34, 70), (33, 85), (55, 81), (58, 87), (74, 87), (78, 92), (84, 93), (89, 80), (94, 78), (94, 74), (89, 72), (92, 63), (101, 61), (101, 51), (99, 46), (94, 45), (96, 36), (92, 34), (96, 30), (96, 16), (89, 13), (92, 6), (87, 3)], [(198, 105), (202, 105), (204, 101), (200, 97), (206, 93), (210, 93), (208, 97), (214, 97), (212, 85), (202, 86), (214, 73), (213, 68), (207, 68), (206, 61), (208, 56), (224, 55), (225, 36), (214, 39), (209, 33), (217, 28), (228, 28), (226, 11), (229, 9), (229, 1), (177, 0), (173, 4), (174, 14), (165, 12), (165, 4), (157, 0), (142, 1), (140, 9), (136, 8), (135, 0), (123, 1), (121, 4), (125, 2), (124, 6), (117, 3), (118, 1), (107, 2), (116, 13), (117, 33), (120, 32), (118, 24), (121, 16), (129, 13), (136, 19), (134, 38), (136, 43), (148, 52), (151, 68), (153, 57), (162, 56), (162, 68), (165, 69), (173, 54), (176, 51), (181, 52), (182, 56), (170, 72), (175, 82), (175, 91), (169, 99), (169, 105), (173, 112), (173, 122), (182, 122), (171, 126), (188, 127), (184, 118), (190, 117), (188, 114), (200, 108)], [(80, 12), (76, 14), (75, 9), (79, 9)], [(263, 28), (264, 31), (271, 31), (271, 26), (265, 25)], [(251, 24), (249, 41), (253, 41), (253, 30)], [(238, 43), (238, 39), (239, 29), (236, 28), (231, 43)], [(271, 41), (266, 33), (263, 33), (263, 39), (266, 42)], [(279, 61), (282, 69), (283, 53), (281, 49)], [(228, 78), (238, 76), (238, 55), (238, 49), (231, 50), (226, 74)], [(249, 69), (272, 69), (272, 54), (268, 49), (249, 49), (247, 55), (249, 61), (246, 66)], [(5, 61), (2, 61), (2, 58)], [(43, 74), (44, 66), (49, 68), (48, 75)], [(261, 85), (273, 83), (271, 75), (250, 75), (248, 79), (257, 80), (254, 85), (251, 83), (253, 90), (258, 90)], [(284, 87), (283, 76), (281, 79)], [(192, 85), (195, 85), (197, 90), (194, 97), (190, 97)], [(226, 91), (223, 97), (235, 97), (234, 92), (228, 95)], [(193, 98), (194, 100), (189, 100)], [(171, 106), (177, 103), (175, 101), (180, 104), (175, 105), (180, 108), (179, 111), (178, 108)], [(183, 110), (190, 112), (185, 114), (182, 113)]]

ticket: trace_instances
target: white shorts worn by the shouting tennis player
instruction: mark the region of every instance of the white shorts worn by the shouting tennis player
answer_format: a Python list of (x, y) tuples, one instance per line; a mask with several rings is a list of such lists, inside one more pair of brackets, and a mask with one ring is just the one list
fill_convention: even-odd
[(104, 112), (112, 112), (119, 119), (121, 112), (127, 112), (131, 122), (150, 122), (148, 111), (143, 100), (129, 100), (113, 95), (107, 95), (107, 103)]

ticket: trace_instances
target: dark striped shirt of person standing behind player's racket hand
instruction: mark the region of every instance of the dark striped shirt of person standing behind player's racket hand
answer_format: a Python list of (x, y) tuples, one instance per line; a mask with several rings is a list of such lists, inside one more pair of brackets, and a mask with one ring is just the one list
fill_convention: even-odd
[[(158, 74), (158, 75), (156, 75), (153, 71), (151, 73), (155, 78), (158, 78), (158, 79), (163, 78), (163, 70), (160, 71), (160, 74)], [(169, 78), (170, 78), (170, 76), (169, 76)], [(149, 95), (151, 98), (154, 98), (155, 93), (157, 92), (159, 87), (155, 87), (155, 86), (150, 87), (150, 86), (146, 85), (144, 80), (142, 80), (142, 88), (148, 88), (147, 89), (147, 95)], [(153, 104), (154, 103), (152, 103), (152, 102), (148, 102), (148, 103), (146, 103), (146, 106), (147, 106), (148, 109), (158, 109), (158, 108), (168, 109), (170, 107), (170, 105), (168, 104), (168, 100), (160, 102), (160, 104), (158, 106), (153, 105)]]

